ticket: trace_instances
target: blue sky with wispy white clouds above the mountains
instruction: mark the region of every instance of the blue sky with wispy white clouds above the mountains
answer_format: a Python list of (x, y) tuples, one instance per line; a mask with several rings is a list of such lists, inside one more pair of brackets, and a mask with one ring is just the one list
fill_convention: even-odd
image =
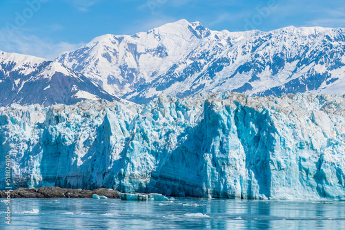
[(55, 59), (101, 35), (133, 35), (179, 19), (210, 30), (345, 28), (345, 1), (6, 0), (0, 1), (0, 50)]

